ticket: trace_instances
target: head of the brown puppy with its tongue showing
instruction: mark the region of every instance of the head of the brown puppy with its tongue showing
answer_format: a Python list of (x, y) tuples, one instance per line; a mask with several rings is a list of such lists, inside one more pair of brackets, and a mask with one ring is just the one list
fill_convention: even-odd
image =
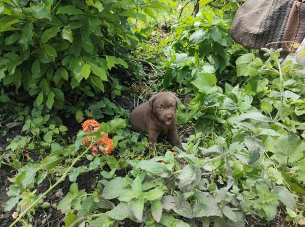
[(172, 123), (178, 106), (178, 98), (174, 94), (169, 92), (158, 93), (152, 96), (148, 103), (159, 121), (166, 125)]

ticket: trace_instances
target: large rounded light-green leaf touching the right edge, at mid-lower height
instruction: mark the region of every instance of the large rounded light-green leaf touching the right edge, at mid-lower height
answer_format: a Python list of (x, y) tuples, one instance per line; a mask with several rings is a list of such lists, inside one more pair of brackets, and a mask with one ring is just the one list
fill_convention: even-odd
[(289, 136), (281, 135), (274, 144), (272, 158), (280, 165), (294, 165), (303, 156), (305, 143), (297, 135), (290, 133)]

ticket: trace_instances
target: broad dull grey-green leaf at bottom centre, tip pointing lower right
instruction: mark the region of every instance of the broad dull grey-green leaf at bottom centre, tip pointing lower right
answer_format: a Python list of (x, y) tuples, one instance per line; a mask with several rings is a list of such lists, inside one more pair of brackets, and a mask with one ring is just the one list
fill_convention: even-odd
[(190, 203), (180, 196), (163, 196), (162, 205), (166, 210), (174, 210), (175, 213), (183, 217), (193, 218)]

